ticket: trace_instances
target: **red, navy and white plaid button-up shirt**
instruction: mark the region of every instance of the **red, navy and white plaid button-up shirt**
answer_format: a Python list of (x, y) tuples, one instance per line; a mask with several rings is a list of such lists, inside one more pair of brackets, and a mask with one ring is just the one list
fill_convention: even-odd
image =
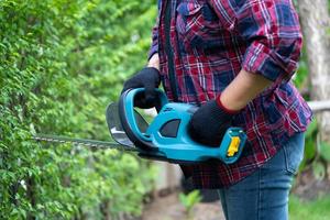
[[(170, 6), (170, 46), (175, 88), (166, 54), (165, 8)], [(167, 42), (168, 43), (168, 42)], [(244, 68), (274, 84), (234, 119), (248, 134), (241, 158), (226, 165), (208, 162), (182, 166), (197, 188), (228, 187), (276, 154), (296, 132), (304, 132), (311, 111), (290, 78), (297, 68), (301, 32), (290, 0), (160, 0), (150, 56), (160, 55), (169, 100), (202, 105), (215, 99)], [(169, 63), (169, 64), (170, 64)]]

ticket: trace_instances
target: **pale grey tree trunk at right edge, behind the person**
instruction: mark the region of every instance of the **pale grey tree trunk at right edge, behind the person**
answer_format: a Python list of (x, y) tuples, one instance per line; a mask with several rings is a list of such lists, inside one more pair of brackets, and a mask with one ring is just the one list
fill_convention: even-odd
[[(299, 16), (305, 35), (312, 100), (330, 100), (330, 19), (328, 0), (298, 0)], [(317, 116), (320, 140), (330, 143), (330, 112)]]

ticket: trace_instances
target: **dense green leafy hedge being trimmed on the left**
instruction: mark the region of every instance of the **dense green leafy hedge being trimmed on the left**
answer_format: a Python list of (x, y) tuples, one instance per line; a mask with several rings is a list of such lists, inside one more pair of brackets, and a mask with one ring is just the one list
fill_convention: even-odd
[(155, 6), (152, 0), (0, 1), (1, 219), (141, 212), (155, 176), (148, 163), (30, 138), (43, 132), (109, 139), (105, 108), (145, 64)]

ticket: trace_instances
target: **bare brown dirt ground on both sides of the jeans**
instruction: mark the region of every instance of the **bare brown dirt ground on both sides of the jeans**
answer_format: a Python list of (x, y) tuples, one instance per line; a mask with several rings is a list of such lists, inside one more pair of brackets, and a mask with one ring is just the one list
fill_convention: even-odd
[[(296, 182), (298, 184), (293, 188), (292, 194), (301, 199), (311, 200), (330, 193), (330, 182), (316, 179), (310, 170), (298, 175)], [(180, 190), (175, 190), (152, 199), (145, 205), (139, 220), (224, 220), (219, 200), (197, 204), (193, 210), (193, 218), (189, 219), (185, 213), (185, 207), (178, 200), (179, 193)]]

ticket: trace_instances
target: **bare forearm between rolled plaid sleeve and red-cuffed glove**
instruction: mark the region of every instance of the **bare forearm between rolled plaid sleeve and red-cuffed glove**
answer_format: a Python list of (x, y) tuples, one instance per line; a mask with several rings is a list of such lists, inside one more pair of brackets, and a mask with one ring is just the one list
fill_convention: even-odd
[(273, 81), (242, 69), (234, 80), (222, 91), (220, 101), (230, 110), (244, 108)]

